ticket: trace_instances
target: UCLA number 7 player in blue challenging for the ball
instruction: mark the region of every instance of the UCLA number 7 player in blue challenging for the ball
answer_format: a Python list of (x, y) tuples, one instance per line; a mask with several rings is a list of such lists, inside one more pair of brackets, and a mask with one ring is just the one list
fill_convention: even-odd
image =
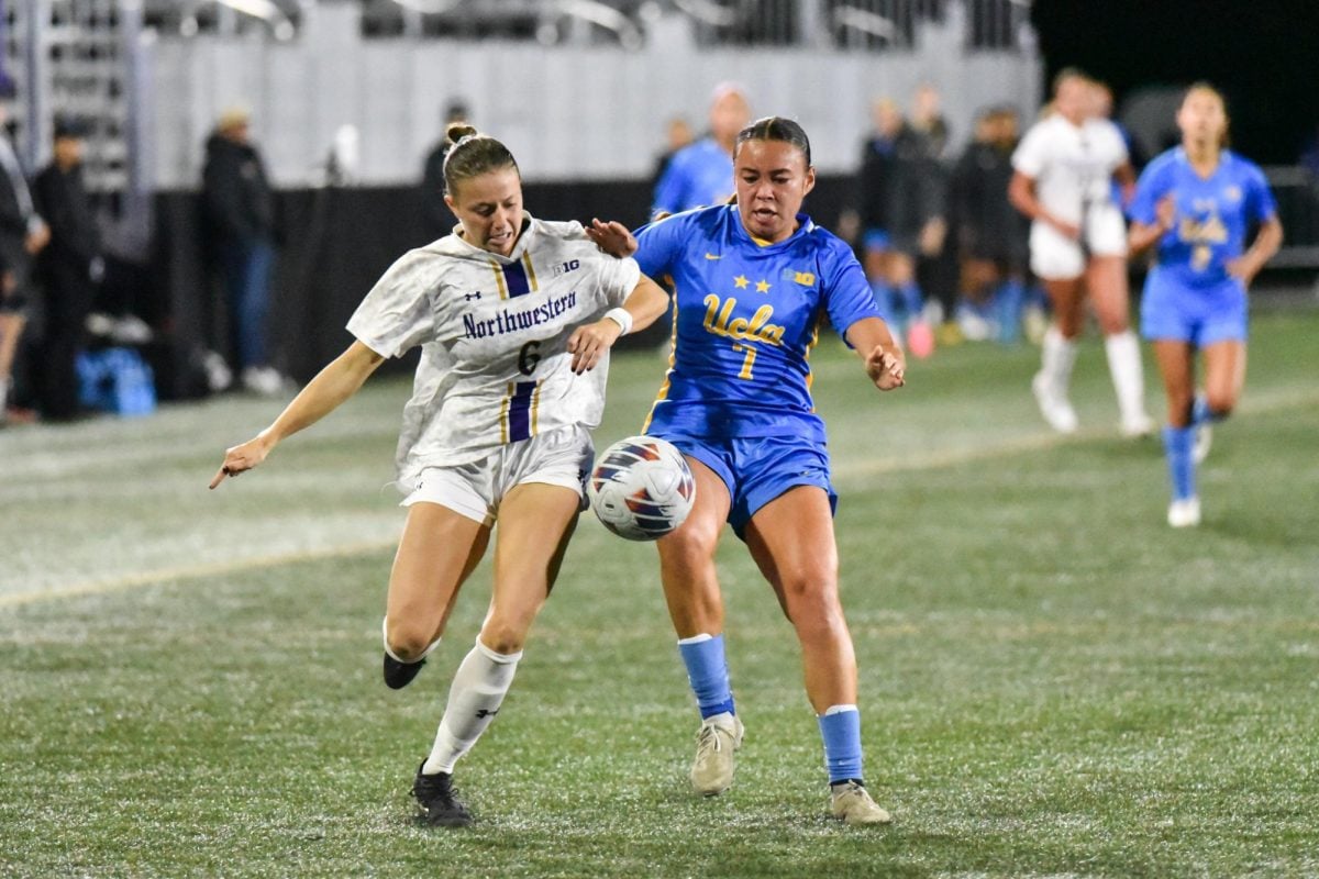
[(880, 390), (902, 385), (905, 361), (851, 249), (798, 212), (815, 184), (801, 125), (768, 117), (744, 128), (733, 181), (735, 204), (666, 217), (634, 239), (616, 223), (588, 229), (605, 250), (634, 252), (644, 271), (669, 275), (675, 291), (671, 366), (644, 430), (677, 445), (696, 478), (691, 514), (658, 542), (702, 716), (691, 780), (707, 796), (725, 791), (743, 738), (715, 572), (728, 522), (797, 630), (832, 814), (884, 824), (889, 813), (863, 781), (856, 655), (838, 594), (836, 496), (809, 357), (827, 319)]

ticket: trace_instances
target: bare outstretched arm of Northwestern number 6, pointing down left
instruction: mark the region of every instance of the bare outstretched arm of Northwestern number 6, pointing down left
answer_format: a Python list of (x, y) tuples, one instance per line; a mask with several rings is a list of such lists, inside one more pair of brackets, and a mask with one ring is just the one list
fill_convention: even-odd
[(224, 481), (226, 476), (237, 476), (251, 470), (265, 460), (266, 455), (285, 436), (310, 427), (332, 412), (340, 403), (357, 393), (384, 357), (367, 348), (360, 341), (352, 343), (346, 352), (335, 357), (298, 395), (285, 407), (280, 416), (264, 431), (241, 445), (224, 452), (224, 463), (211, 478), (211, 488)]

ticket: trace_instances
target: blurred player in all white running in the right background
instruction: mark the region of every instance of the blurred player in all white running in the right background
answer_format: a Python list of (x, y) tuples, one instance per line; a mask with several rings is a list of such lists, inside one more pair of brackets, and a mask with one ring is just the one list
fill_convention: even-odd
[(1121, 432), (1145, 436), (1154, 422), (1145, 411), (1140, 343), (1128, 320), (1126, 229), (1112, 184), (1116, 177), (1129, 198), (1134, 175), (1121, 132), (1093, 116), (1092, 96), (1084, 74), (1060, 72), (1054, 112), (1026, 132), (1012, 158), (1016, 173), (1008, 195), (1031, 220), (1030, 268), (1054, 307), (1031, 390), (1050, 427), (1060, 434), (1076, 430), (1067, 390), (1088, 291), (1104, 333)]

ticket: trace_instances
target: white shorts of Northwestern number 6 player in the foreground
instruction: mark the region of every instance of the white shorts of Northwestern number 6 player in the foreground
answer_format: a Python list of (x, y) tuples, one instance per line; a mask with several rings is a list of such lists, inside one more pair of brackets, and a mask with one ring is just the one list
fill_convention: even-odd
[(438, 503), (481, 525), (493, 525), (500, 501), (525, 482), (572, 489), (586, 509), (586, 480), (595, 460), (591, 432), (565, 427), (510, 443), (479, 461), (458, 467), (427, 467), (401, 506)]

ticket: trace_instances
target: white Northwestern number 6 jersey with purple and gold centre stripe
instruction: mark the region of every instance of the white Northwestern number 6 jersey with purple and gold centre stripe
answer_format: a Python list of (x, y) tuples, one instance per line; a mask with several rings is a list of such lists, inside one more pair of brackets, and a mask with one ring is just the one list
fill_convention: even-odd
[(641, 277), (634, 260), (601, 253), (580, 223), (528, 215), (508, 257), (468, 244), (459, 228), (405, 253), (348, 320), (348, 332), (381, 356), (422, 348), (398, 436), (404, 489), (425, 467), (599, 426), (608, 354), (576, 376), (567, 340), (623, 304)]

